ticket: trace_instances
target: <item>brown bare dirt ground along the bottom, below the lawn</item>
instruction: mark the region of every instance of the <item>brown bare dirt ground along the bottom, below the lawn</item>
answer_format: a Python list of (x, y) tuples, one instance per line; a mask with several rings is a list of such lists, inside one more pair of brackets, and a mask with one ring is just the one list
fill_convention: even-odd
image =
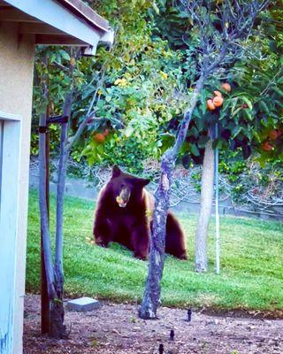
[[(102, 303), (93, 312), (66, 312), (69, 339), (40, 333), (40, 297), (26, 296), (24, 354), (282, 354), (283, 320), (210, 316), (161, 308), (159, 319), (142, 320), (133, 304)], [(170, 340), (170, 331), (174, 340)], [(162, 352), (162, 351), (160, 351)]]

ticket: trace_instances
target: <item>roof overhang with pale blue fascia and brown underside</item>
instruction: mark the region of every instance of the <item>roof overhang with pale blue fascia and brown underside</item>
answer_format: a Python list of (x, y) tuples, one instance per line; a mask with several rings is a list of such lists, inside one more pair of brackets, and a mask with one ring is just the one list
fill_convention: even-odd
[(0, 0), (0, 22), (19, 23), (19, 35), (37, 44), (79, 45), (94, 55), (99, 42), (111, 46), (109, 23), (80, 0)]

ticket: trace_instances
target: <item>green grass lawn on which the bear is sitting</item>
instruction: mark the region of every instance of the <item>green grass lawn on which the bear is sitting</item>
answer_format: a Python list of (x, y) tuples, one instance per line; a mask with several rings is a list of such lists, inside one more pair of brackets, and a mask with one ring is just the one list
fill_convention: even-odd
[[(54, 229), (54, 199), (51, 199)], [(140, 301), (147, 262), (134, 259), (118, 244), (102, 249), (92, 237), (94, 203), (65, 198), (64, 266), (67, 296), (95, 296), (114, 301)], [(214, 273), (213, 222), (210, 225), (208, 273), (194, 272), (196, 215), (180, 214), (187, 235), (189, 261), (167, 257), (162, 281), (163, 304), (217, 309), (283, 310), (282, 223), (223, 217), (221, 273)], [(40, 289), (40, 234), (37, 194), (29, 199), (27, 291)]]

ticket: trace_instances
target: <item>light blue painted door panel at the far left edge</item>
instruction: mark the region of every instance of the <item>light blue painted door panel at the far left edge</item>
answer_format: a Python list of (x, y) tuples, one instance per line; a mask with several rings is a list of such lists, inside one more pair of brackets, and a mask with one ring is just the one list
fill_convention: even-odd
[(12, 354), (19, 218), (20, 121), (0, 112), (0, 354)]

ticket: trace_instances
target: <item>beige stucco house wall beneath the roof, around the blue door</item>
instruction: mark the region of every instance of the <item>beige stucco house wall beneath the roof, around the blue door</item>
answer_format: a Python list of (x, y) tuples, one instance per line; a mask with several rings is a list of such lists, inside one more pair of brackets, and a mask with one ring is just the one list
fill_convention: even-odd
[(18, 25), (0, 22), (0, 111), (22, 117), (19, 178), (19, 239), (17, 248), (14, 353), (22, 352), (25, 294), (27, 201), (30, 126), (33, 94), (34, 36), (19, 36)]

